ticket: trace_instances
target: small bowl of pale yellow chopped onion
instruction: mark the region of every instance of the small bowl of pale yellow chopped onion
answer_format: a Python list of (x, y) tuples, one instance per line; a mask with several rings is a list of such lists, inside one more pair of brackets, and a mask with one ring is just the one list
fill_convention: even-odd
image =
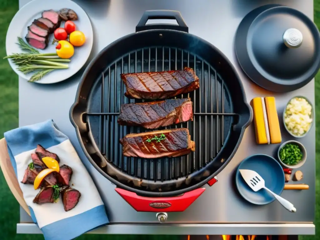
[(311, 129), (314, 116), (311, 102), (306, 97), (296, 96), (290, 99), (284, 109), (284, 127), (293, 137), (302, 138)]

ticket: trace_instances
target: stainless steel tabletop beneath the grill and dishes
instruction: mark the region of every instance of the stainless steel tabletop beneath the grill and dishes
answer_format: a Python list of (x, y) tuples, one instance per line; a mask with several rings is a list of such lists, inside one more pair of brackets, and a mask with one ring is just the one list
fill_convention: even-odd
[[(20, 7), (29, 0), (20, 0)], [(287, 101), (295, 95), (308, 96), (314, 104), (314, 80), (290, 93), (274, 94), (253, 84), (241, 71), (234, 52), (234, 36), (242, 18), (252, 9), (269, 3), (291, 6), (313, 19), (312, 0), (76, 0), (88, 13), (94, 29), (91, 58), (114, 40), (132, 33), (145, 10), (179, 10), (189, 32), (211, 42), (234, 64), (243, 82), (247, 100), (256, 96), (276, 97), (281, 116)], [(233, 173), (246, 157), (256, 153), (274, 154), (279, 145), (255, 143), (253, 125), (245, 132), (242, 143), (228, 166), (217, 176), (219, 182), (207, 189), (185, 212), (169, 213), (167, 223), (160, 224), (155, 213), (136, 212), (115, 191), (115, 185), (102, 177), (84, 156), (69, 121), (69, 108), (74, 102), (76, 89), (84, 68), (60, 84), (30, 84), (19, 78), (19, 125), (35, 124), (53, 118), (60, 130), (68, 135), (80, 158), (92, 175), (106, 205), (110, 224), (94, 230), (102, 234), (315, 234), (315, 126), (308, 137), (301, 139), (307, 149), (308, 160), (301, 168), (303, 182), (309, 190), (284, 191), (282, 196), (297, 208), (290, 213), (277, 202), (255, 206), (245, 202), (234, 187)], [(34, 106), (50, 111), (32, 111)], [(32, 111), (32, 114), (31, 114)], [(281, 121), (281, 119), (280, 119)], [(280, 123), (281, 126), (283, 123)], [(283, 141), (291, 139), (282, 127)], [(31, 218), (21, 209), (17, 233), (41, 233)]]

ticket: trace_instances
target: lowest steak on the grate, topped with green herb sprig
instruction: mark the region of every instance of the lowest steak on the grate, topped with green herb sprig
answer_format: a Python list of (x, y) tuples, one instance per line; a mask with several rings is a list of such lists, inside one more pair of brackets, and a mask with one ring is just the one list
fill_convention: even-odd
[[(164, 134), (163, 140), (158, 139)], [(195, 151), (187, 128), (165, 129), (154, 132), (130, 133), (120, 139), (124, 156), (141, 158), (177, 157)]]

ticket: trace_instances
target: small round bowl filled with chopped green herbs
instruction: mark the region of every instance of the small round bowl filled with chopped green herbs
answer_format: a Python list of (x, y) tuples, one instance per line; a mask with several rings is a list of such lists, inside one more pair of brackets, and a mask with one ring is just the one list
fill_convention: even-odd
[(307, 151), (300, 142), (290, 140), (281, 144), (278, 158), (286, 168), (299, 168), (306, 162)]

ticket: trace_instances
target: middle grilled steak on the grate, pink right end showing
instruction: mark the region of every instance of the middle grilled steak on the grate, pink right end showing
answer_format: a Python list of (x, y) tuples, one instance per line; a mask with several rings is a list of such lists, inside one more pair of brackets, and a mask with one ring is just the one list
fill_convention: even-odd
[(155, 129), (173, 123), (186, 122), (192, 118), (192, 101), (189, 98), (167, 99), (156, 102), (123, 104), (118, 123)]

